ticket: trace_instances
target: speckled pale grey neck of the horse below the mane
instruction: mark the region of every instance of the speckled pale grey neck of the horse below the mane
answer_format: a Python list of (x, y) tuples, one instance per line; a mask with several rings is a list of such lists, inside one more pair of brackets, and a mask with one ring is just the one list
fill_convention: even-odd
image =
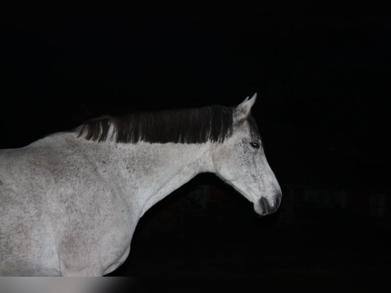
[(212, 169), (209, 143), (139, 142), (133, 146), (127, 170), (130, 187), (135, 189), (129, 192), (137, 190), (133, 196), (137, 198), (140, 217), (195, 175)]

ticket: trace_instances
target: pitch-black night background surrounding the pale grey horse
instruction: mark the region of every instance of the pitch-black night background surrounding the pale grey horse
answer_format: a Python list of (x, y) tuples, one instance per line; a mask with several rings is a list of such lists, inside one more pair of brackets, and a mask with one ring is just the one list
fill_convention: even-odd
[(390, 21), (379, 9), (16, 14), (1, 31), (1, 148), (134, 110), (253, 108), (280, 182), (259, 218), (202, 174), (141, 218), (110, 276), (324, 279), (391, 264)]

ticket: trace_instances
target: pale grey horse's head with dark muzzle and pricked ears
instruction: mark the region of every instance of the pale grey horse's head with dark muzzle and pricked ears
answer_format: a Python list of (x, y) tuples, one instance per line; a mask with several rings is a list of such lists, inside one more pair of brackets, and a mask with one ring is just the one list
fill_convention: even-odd
[(281, 188), (267, 163), (254, 118), (250, 115), (256, 94), (233, 111), (232, 135), (216, 144), (212, 153), (216, 175), (232, 185), (254, 204), (260, 215), (275, 212), (281, 202)]

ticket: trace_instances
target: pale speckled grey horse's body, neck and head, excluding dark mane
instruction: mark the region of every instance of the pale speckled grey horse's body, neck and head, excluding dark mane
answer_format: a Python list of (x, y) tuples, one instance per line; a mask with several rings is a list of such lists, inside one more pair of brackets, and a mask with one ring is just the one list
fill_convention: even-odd
[(149, 137), (142, 119), (137, 131), (127, 120), (133, 134), (108, 119), (1, 150), (0, 275), (114, 271), (128, 257), (144, 212), (202, 172), (231, 184), (257, 213), (275, 211), (281, 190), (249, 118), (254, 102), (233, 108), (231, 121), (214, 134), (210, 120), (207, 132), (180, 133), (170, 142)]

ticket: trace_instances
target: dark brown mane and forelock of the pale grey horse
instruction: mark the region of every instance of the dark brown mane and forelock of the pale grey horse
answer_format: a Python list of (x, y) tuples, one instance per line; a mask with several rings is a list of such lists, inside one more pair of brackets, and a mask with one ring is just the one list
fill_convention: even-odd
[[(105, 116), (87, 121), (79, 129), (79, 136), (87, 140), (105, 141), (112, 125), (116, 142), (223, 142), (232, 134), (232, 113), (233, 108), (211, 106)], [(252, 133), (258, 134), (254, 118), (249, 117), (248, 121)]]

